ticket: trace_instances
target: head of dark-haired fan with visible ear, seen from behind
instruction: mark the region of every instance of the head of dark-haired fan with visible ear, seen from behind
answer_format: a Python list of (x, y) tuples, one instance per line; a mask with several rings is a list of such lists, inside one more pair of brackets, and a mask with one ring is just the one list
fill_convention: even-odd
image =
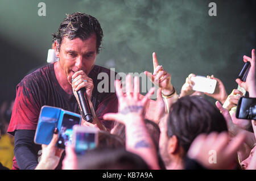
[(201, 96), (177, 100), (164, 124), (159, 149), (167, 169), (184, 169), (185, 155), (199, 134), (228, 131), (218, 109)]

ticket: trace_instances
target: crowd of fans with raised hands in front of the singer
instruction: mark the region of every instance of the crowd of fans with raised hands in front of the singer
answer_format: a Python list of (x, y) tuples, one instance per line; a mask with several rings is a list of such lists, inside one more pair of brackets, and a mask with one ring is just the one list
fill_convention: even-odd
[[(255, 50), (243, 61), (249, 61), (251, 68), (245, 82), (236, 82), (256, 98)], [(256, 169), (256, 120), (237, 119), (234, 111), (245, 92), (234, 89), (228, 95), (213, 75), (208, 76), (217, 81), (213, 94), (193, 91), (191, 78), (196, 75), (189, 74), (177, 95), (171, 75), (158, 65), (155, 53), (153, 62), (154, 73), (144, 73), (159, 86), (156, 100), (150, 99), (154, 88), (145, 96), (139, 94), (138, 77), (127, 75), (125, 92), (116, 80), (118, 113), (104, 115), (104, 120), (115, 121), (114, 128), (99, 131), (97, 148), (84, 155), (77, 155), (73, 145), (56, 148), (55, 130), (51, 143), (42, 145), (36, 169), (56, 169), (61, 156), (62, 169)], [(205, 95), (216, 99), (216, 105)], [(10, 108), (6, 103), (1, 107), (2, 169), (11, 169), (14, 155), (13, 137), (6, 133), (10, 117), (5, 115)]]

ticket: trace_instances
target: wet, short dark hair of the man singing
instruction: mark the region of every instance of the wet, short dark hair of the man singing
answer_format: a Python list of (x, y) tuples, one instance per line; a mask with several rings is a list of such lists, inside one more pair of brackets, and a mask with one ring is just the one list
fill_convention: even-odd
[(91, 35), (96, 35), (97, 53), (100, 53), (103, 31), (101, 25), (96, 18), (81, 12), (74, 12), (71, 15), (67, 14), (67, 18), (60, 24), (59, 30), (53, 33), (53, 40), (60, 44), (63, 37), (67, 36), (69, 40), (79, 37), (81, 40), (88, 39)]

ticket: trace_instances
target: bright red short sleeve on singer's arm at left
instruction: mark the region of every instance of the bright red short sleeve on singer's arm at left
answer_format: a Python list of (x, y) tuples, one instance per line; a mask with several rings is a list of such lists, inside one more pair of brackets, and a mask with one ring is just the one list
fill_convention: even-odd
[(36, 129), (40, 113), (40, 106), (36, 100), (36, 92), (38, 92), (36, 88), (38, 87), (33, 82), (30, 86), (19, 83), (16, 87), (16, 98), (7, 130), (10, 134), (14, 135), (17, 129)]

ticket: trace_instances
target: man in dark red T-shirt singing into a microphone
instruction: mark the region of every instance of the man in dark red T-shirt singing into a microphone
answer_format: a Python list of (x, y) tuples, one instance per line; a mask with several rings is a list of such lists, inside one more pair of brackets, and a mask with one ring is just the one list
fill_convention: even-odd
[[(101, 81), (97, 75), (102, 72), (110, 75), (109, 69), (94, 65), (102, 36), (100, 23), (93, 16), (80, 12), (67, 15), (53, 34), (59, 61), (35, 70), (17, 85), (8, 129), (15, 136), (13, 169), (35, 169), (38, 164), (41, 146), (34, 144), (34, 135), (41, 107), (47, 105), (80, 113), (76, 93), (80, 89), (86, 90), (92, 124), (108, 131), (113, 127), (112, 121), (104, 121), (102, 117), (107, 112), (117, 112), (117, 97), (110, 91), (97, 90)], [(90, 123), (83, 120), (82, 124)]]

